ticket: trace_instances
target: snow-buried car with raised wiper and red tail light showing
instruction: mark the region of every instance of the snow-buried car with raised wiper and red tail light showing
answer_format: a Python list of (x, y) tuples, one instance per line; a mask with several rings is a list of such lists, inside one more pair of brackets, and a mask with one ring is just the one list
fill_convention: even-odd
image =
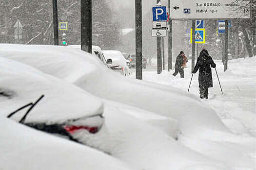
[(75, 85), (2, 57), (0, 77), (0, 116), (88, 145), (104, 124), (103, 103)]

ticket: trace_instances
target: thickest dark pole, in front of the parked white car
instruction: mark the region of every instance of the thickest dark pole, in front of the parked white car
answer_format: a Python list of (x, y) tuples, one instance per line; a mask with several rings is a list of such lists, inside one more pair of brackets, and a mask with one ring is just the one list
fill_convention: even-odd
[(92, 0), (81, 0), (81, 50), (92, 53)]

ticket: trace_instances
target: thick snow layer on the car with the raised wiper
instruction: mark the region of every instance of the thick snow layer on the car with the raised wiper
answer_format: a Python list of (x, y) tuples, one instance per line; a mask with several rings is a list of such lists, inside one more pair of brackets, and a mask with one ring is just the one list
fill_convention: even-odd
[[(62, 123), (103, 113), (103, 104), (79, 87), (42, 73), (36, 68), (0, 57), (0, 89), (10, 91), (10, 98), (1, 97), (1, 113), (7, 116), (21, 106), (45, 97), (27, 116), (26, 122)], [(18, 112), (14, 118), (20, 119)]]

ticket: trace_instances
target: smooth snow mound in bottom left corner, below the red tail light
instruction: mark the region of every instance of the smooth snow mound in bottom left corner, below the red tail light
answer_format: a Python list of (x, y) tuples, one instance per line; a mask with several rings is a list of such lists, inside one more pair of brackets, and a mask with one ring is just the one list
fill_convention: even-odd
[[(1, 97), (0, 97), (1, 100)], [(2, 111), (2, 109), (1, 109)], [(88, 146), (40, 132), (0, 115), (1, 170), (130, 170)]]

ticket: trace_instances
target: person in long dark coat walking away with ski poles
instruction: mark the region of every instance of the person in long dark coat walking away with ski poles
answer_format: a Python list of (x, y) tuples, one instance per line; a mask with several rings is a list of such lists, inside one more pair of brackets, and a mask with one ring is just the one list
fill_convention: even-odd
[(198, 82), (201, 99), (208, 99), (208, 88), (213, 87), (212, 69), (210, 66), (216, 68), (216, 64), (208, 51), (203, 49), (200, 52), (199, 57), (197, 58), (197, 64), (192, 71), (192, 73), (195, 74), (199, 68)]

